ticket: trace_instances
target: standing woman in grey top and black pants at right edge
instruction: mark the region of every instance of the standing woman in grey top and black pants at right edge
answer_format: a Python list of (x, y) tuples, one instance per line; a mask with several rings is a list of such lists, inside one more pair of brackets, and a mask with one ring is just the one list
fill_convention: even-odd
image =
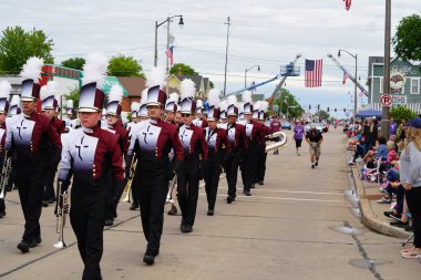
[(421, 258), (421, 117), (410, 122), (405, 149), (401, 154), (401, 182), (414, 224), (413, 246), (402, 250), (403, 258)]

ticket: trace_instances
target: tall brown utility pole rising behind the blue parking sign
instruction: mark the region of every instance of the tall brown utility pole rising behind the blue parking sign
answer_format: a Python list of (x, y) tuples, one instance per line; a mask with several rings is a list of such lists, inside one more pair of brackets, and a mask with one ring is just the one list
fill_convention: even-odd
[[(391, 0), (386, 0), (383, 94), (390, 94), (390, 18)], [(388, 139), (389, 134), (390, 112), (389, 107), (383, 106), (381, 114), (381, 135)]]

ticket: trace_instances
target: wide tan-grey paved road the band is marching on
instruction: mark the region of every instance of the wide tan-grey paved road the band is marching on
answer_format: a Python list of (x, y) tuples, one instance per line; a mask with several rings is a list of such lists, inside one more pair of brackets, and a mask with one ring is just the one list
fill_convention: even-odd
[[(119, 206), (116, 226), (104, 232), (104, 279), (418, 279), (418, 260), (399, 257), (401, 240), (364, 228), (346, 195), (351, 185), (340, 129), (325, 134), (320, 165), (310, 168), (308, 146), (295, 154), (291, 141), (269, 155), (264, 186), (226, 204), (220, 179), (215, 216), (206, 216), (203, 184), (192, 234), (179, 216), (165, 215), (161, 255), (142, 262), (145, 240), (138, 212)], [(238, 182), (237, 187), (242, 187)], [(242, 189), (238, 189), (242, 194)], [(23, 218), (17, 191), (0, 219), (1, 279), (81, 279), (82, 261), (68, 226), (69, 247), (58, 250), (53, 207), (43, 209), (43, 242), (22, 255)]]

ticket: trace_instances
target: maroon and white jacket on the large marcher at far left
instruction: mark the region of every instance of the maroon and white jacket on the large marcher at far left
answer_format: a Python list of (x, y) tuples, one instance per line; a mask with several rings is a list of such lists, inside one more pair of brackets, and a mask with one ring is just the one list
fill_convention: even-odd
[(6, 149), (9, 151), (13, 146), (18, 157), (37, 154), (45, 147), (44, 135), (55, 149), (61, 149), (60, 135), (50, 118), (37, 112), (32, 112), (31, 115), (16, 115), (8, 121)]

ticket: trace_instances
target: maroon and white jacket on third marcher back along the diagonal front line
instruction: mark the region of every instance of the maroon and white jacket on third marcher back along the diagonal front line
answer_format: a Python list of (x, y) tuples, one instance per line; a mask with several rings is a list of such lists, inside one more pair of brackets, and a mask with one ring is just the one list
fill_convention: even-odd
[(202, 159), (207, 159), (207, 145), (203, 134), (203, 129), (191, 125), (182, 125), (178, 128), (178, 137), (183, 145), (184, 162), (198, 159), (202, 155)]

